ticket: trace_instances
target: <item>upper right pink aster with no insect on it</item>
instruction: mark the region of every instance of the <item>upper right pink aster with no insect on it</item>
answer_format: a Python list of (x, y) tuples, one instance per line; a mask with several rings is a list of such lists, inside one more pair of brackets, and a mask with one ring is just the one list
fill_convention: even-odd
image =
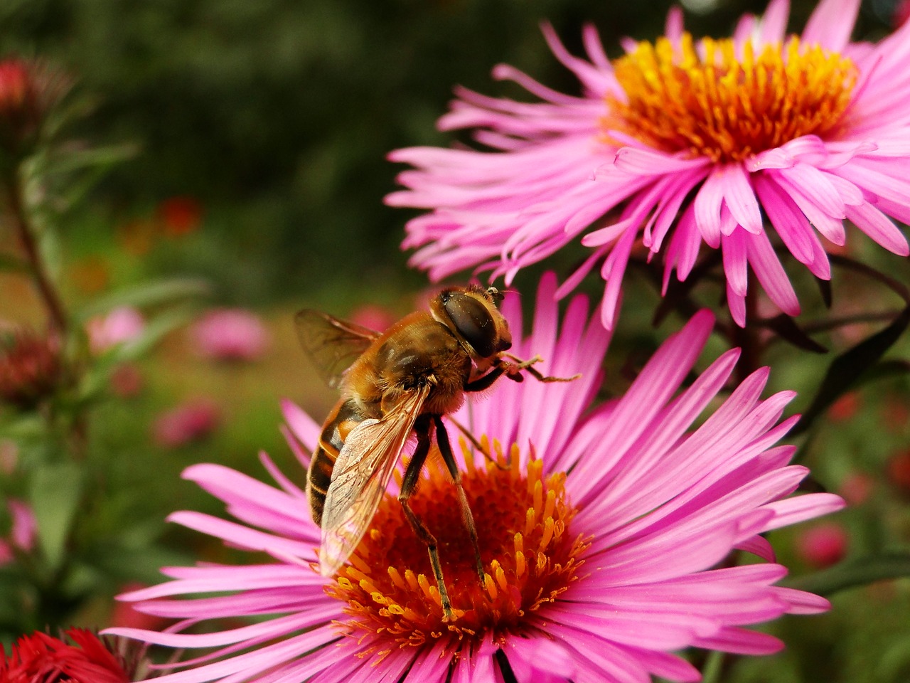
[(877, 45), (851, 43), (860, 0), (822, 0), (802, 36), (786, 36), (789, 7), (772, 0), (732, 38), (694, 41), (673, 11), (656, 43), (626, 41), (610, 60), (595, 30), (587, 59), (552, 28), (551, 50), (581, 82), (581, 97), (554, 92), (509, 66), (541, 101), (485, 97), (464, 88), (440, 119), (486, 149), (408, 148), (389, 158), (415, 167), (394, 206), (430, 209), (408, 223), (411, 262), (434, 280), (518, 270), (572, 240), (590, 256), (558, 295), (595, 266), (612, 325), (622, 275), (641, 242), (685, 280), (702, 244), (723, 254), (733, 319), (745, 321), (748, 270), (789, 315), (800, 311), (778, 259), (827, 280), (826, 249), (844, 245), (844, 219), (906, 256), (893, 219), (910, 221), (910, 25)]

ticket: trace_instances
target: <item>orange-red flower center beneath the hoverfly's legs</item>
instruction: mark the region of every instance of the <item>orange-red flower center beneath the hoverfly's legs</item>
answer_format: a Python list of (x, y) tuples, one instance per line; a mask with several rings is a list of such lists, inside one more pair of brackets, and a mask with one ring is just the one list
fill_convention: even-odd
[[(486, 444), (483, 440), (481, 443)], [(489, 448), (486, 447), (489, 451)], [(571, 535), (575, 509), (565, 474), (543, 474), (540, 460), (521, 465), (517, 447), (476, 461), (461, 443), (468, 498), (484, 569), (478, 576), (455, 485), (430, 458), (410, 505), (439, 542), (440, 564), (454, 618), (443, 614), (427, 546), (414, 535), (397, 497), (386, 494), (369, 534), (327, 586), (345, 602), (339, 629), (376, 647), (409, 647), (445, 639), (457, 651), (482, 637), (521, 633), (529, 615), (556, 600), (579, 576), (587, 547)]]

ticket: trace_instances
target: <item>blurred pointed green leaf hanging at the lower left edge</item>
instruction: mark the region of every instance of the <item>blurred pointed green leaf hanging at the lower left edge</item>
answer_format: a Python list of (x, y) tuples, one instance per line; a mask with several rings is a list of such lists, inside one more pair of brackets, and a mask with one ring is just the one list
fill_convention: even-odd
[(47, 564), (56, 568), (66, 556), (66, 539), (82, 498), (82, 470), (73, 463), (45, 464), (35, 469), (30, 484), (38, 542)]

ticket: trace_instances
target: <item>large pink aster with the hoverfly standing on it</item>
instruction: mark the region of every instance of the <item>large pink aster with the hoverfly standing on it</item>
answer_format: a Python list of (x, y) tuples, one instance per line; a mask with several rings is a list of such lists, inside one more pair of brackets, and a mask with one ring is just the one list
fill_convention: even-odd
[[(295, 484), (303, 474), (288, 477), (262, 455), (277, 487), (216, 464), (185, 473), (236, 521), (194, 512), (171, 520), (271, 559), (170, 567), (168, 583), (121, 596), (148, 614), (182, 619), (177, 631), (211, 621), (204, 634), (110, 632), (214, 648), (158, 683), (694, 681), (698, 671), (672, 651), (782, 647), (744, 627), (824, 611), (828, 603), (773, 585), (786, 569), (761, 534), (843, 505), (833, 494), (788, 497), (806, 474), (787, 464), (792, 446), (774, 445), (794, 423), (778, 423), (793, 394), (762, 400), (765, 368), (693, 428), (738, 355), (724, 353), (681, 389), (713, 328), (703, 311), (622, 398), (591, 407), (608, 332), (589, 321), (582, 297), (560, 325), (555, 289), (554, 278), (542, 281), (524, 339), (519, 303), (507, 297), (514, 350), (540, 353), (541, 372), (581, 372), (581, 379), (497, 382), (454, 416), (493, 444), (487, 458), (462, 441), (458, 456), (487, 572), (483, 586), (463, 552), (469, 541), (449, 475), (430, 466), (410, 499), (439, 541), (453, 621), (442, 620), (426, 547), (394, 490), (349, 564), (323, 577), (315, 564), (319, 528)], [(285, 414), (306, 466), (319, 424), (290, 403)], [(735, 548), (764, 561), (726, 566)], [(237, 617), (256, 622), (237, 626)]]

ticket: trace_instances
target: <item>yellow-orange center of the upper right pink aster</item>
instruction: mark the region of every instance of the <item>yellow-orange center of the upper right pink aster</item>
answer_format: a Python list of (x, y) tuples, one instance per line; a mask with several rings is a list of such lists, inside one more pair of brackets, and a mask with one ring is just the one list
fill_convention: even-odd
[(844, 127), (858, 70), (847, 57), (798, 37), (764, 46), (683, 34), (642, 42), (613, 62), (622, 93), (606, 97), (603, 138), (635, 138), (665, 152), (742, 161), (805, 135)]

